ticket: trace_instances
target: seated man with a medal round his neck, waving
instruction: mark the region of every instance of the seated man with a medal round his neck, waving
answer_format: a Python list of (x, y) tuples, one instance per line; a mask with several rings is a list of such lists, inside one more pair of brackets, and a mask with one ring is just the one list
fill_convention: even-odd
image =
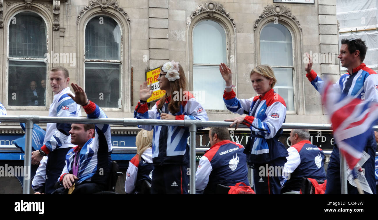
[[(87, 99), (85, 91), (71, 84), (75, 96), (69, 96), (81, 105), (88, 118), (107, 118), (98, 105)], [(72, 124), (71, 143), (75, 146), (66, 154), (65, 166), (58, 179), (63, 187), (53, 194), (93, 194), (106, 190), (112, 159), (112, 140), (109, 125)]]

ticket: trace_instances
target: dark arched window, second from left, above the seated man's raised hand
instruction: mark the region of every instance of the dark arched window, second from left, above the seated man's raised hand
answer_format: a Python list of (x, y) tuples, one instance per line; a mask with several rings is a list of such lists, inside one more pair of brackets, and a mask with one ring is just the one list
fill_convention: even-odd
[(101, 107), (121, 108), (121, 29), (107, 16), (85, 27), (85, 91)]

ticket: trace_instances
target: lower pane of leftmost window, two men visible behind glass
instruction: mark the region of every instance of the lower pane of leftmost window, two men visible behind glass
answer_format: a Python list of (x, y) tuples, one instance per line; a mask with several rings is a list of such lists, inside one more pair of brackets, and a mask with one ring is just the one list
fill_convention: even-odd
[(9, 60), (8, 105), (45, 106), (46, 63)]

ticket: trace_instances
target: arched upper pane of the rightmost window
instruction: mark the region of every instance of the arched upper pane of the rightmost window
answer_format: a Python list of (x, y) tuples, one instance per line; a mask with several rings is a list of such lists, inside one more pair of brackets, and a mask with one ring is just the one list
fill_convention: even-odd
[(271, 23), (262, 29), (260, 34), (260, 58), (261, 64), (293, 66), (292, 39), (285, 26)]

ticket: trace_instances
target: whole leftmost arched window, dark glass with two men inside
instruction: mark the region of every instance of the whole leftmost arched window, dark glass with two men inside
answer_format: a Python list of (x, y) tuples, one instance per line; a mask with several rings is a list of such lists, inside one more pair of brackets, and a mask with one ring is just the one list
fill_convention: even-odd
[(46, 106), (46, 39), (46, 24), (34, 12), (20, 12), (9, 21), (9, 106)]

